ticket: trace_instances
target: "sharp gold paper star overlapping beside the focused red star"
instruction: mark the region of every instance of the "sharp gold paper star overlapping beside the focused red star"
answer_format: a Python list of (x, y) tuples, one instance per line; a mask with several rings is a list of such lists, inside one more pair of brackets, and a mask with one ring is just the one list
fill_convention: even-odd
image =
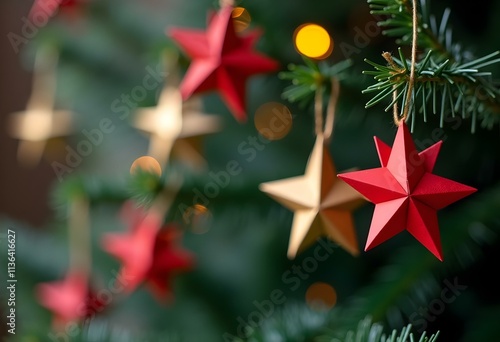
[(365, 202), (358, 192), (336, 177), (322, 134), (303, 176), (260, 184), (260, 190), (294, 212), (288, 258), (327, 236), (352, 255), (359, 254), (352, 211)]

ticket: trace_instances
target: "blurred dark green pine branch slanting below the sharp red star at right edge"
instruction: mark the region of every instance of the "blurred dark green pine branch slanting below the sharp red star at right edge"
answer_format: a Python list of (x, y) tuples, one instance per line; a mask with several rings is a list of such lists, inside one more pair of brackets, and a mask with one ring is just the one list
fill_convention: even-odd
[[(357, 322), (370, 315), (376, 321), (401, 318), (427, 306), (441, 286), (435, 284), (454, 272), (471, 267), (482, 256), (481, 248), (498, 241), (500, 222), (495, 208), (500, 205), (500, 185), (477, 195), (475, 202), (457, 208), (461, 215), (450, 212), (441, 220), (445, 263), (440, 263), (419, 245), (402, 247), (395, 252), (388, 266), (381, 268), (371, 285), (342, 307), (332, 319), (332, 326), (352, 329)], [(464, 217), (469, 218), (464, 221)], [(472, 222), (475, 222), (472, 224)], [(422, 291), (422, 289), (427, 289)], [(420, 296), (420, 303), (416, 298)], [(413, 298), (412, 298), (413, 297)], [(342, 323), (340, 322), (342, 321)]]

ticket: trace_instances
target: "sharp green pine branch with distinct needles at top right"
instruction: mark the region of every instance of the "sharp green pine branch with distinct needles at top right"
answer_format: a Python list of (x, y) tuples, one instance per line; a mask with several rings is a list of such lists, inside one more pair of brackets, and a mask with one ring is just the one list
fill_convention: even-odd
[[(406, 45), (412, 40), (411, 3), (410, 0), (368, 0), (372, 14), (387, 17), (379, 21), (379, 26), (385, 27), (383, 33), (398, 37), (397, 43)], [(366, 103), (366, 108), (386, 101), (385, 110), (388, 111), (395, 103), (402, 108), (406, 101), (411, 100), (413, 122), (416, 108), (419, 108), (418, 113), (424, 122), (428, 111), (439, 114), (441, 127), (446, 117), (459, 114), (472, 119), (472, 132), (475, 132), (477, 120), (481, 127), (491, 129), (500, 121), (500, 90), (492, 73), (485, 68), (500, 62), (500, 52), (474, 58), (471, 52), (452, 41), (452, 29), (448, 27), (449, 10), (444, 12), (438, 27), (435, 17), (429, 15), (426, 0), (420, 1), (418, 9), (418, 47), (423, 53), (416, 64), (412, 99), (404, 98), (410, 81), (410, 62), (399, 48), (399, 58), (383, 54), (387, 65), (365, 60), (375, 70), (364, 71), (364, 74), (377, 81), (363, 91), (376, 93)], [(399, 94), (396, 98), (393, 91)]]

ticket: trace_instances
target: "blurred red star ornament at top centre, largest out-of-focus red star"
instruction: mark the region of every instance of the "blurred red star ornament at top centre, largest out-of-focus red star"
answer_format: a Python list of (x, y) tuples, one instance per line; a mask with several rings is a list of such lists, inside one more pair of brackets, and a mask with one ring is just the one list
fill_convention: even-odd
[(167, 35), (192, 59), (180, 85), (183, 99), (217, 90), (242, 122), (246, 120), (247, 80), (277, 70), (278, 63), (254, 50), (259, 31), (236, 33), (232, 10), (232, 6), (224, 6), (215, 13), (206, 31), (171, 28)]

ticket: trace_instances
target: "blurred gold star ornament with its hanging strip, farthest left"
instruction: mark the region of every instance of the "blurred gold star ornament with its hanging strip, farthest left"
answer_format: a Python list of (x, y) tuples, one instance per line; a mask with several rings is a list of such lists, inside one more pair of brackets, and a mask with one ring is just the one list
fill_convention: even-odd
[(26, 109), (11, 113), (8, 133), (19, 140), (18, 161), (26, 166), (37, 165), (52, 138), (71, 132), (72, 113), (55, 110), (57, 55), (54, 51), (37, 53), (33, 88)]

